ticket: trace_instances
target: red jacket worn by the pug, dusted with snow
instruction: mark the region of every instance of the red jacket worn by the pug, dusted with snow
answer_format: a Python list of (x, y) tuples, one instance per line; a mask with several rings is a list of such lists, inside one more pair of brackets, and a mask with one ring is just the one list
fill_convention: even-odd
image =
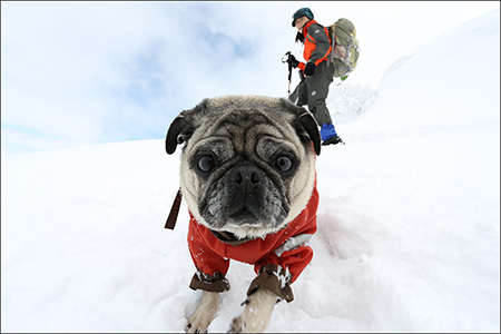
[(235, 259), (253, 264), (256, 274), (266, 264), (279, 265), (288, 269), (294, 282), (313, 258), (313, 250), (304, 240), (316, 232), (317, 207), (318, 193), (315, 185), (306, 208), (285, 228), (238, 246), (219, 240), (189, 213), (189, 253), (196, 267), (206, 275), (226, 275), (229, 259)]

